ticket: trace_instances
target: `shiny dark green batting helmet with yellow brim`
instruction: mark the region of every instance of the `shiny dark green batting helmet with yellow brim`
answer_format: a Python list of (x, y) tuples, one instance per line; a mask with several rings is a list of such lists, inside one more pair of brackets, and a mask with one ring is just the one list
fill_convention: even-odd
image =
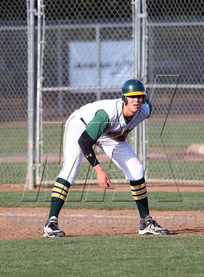
[(126, 96), (132, 95), (144, 95), (143, 103), (145, 103), (146, 95), (145, 87), (142, 81), (138, 79), (130, 79), (124, 82), (122, 85), (122, 102), (127, 105)]

